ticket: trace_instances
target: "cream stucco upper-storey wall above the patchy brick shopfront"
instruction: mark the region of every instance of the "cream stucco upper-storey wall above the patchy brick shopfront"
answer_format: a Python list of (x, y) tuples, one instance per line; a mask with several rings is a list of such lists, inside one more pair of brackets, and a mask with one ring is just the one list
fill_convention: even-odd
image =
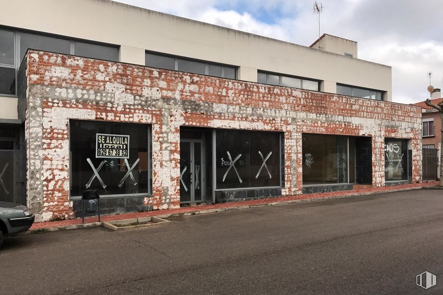
[[(153, 51), (236, 66), (239, 80), (256, 82), (262, 70), (319, 80), (323, 92), (336, 93), (337, 83), (381, 90), (392, 101), (391, 67), (357, 59), (357, 43), (342, 38), (310, 48), (109, 0), (0, 4), (8, 7), (0, 28), (117, 45), (121, 62), (144, 65), (145, 52)], [(16, 100), (0, 97), (0, 118), (17, 118)]]

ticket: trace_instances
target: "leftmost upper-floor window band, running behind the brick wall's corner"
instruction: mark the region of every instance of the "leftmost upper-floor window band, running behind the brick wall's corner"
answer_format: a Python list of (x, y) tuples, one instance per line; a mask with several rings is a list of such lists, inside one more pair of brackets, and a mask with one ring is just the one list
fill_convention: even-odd
[(0, 29), (0, 95), (16, 95), (17, 69), (28, 49), (118, 61), (118, 47)]

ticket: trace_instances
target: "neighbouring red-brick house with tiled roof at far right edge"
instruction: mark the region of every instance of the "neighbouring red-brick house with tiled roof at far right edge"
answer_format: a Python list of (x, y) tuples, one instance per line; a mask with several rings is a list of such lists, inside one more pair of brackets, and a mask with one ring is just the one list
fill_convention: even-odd
[[(431, 101), (436, 105), (443, 101), (440, 88), (434, 89), (431, 93)], [(442, 148), (442, 132), (440, 129), (442, 118), (440, 118), (439, 111), (427, 106), (425, 101), (415, 103), (414, 105), (422, 108), (422, 146), (425, 149), (424, 153), (426, 153), (426, 156), (429, 154), (430, 163), (428, 163), (427, 159), (423, 159), (424, 163), (429, 166), (424, 176), (427, 180), (436, 179), (440, 175), (440, 149)], [(434, 171), (432, 171), (433, 169)]]

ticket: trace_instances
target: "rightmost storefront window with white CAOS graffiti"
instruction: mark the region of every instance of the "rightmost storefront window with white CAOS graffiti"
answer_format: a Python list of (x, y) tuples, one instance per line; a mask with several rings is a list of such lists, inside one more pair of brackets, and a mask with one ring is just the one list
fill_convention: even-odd
[(408, 179), (407, 158), (407, 140), (385, 139), (384, 177), (386, 181)]

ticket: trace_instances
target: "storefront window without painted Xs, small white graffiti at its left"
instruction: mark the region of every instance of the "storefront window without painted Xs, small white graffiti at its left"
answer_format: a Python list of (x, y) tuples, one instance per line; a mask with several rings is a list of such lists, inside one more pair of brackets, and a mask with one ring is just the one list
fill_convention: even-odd
[(348, 183), (348, 137), (303, 134), (303, 185)]

